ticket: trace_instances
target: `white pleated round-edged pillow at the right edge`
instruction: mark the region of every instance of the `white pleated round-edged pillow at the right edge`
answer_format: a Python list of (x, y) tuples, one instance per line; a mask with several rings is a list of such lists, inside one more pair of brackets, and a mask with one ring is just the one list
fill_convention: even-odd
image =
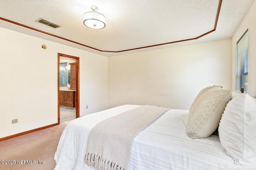
[(235, 164), (256, 163), (256, 103), (251, 96), (238, 95), (228, 102), (218, 131)]

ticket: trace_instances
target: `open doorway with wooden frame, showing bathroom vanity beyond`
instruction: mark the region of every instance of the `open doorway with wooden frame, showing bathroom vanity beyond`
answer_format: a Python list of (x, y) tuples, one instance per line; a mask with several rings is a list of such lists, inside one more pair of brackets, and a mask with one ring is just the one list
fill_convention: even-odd
[(79, 57), (58, 53), (58, 124), (80, 117)]

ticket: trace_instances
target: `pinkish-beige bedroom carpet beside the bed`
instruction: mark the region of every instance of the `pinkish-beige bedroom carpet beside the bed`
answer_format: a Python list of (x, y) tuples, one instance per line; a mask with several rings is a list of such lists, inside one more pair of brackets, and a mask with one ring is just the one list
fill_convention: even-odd
[[(69, 122), (0, 141), (0, 160), (15, 161), (15, 164), (0, 164), (0, 170), (53, 170), (56, 166), (54, 154)], [(23, 164), (17, 164), (17, 160), (20, 163), (23, 160)], [(31, 164), (25, 164), (29, 161)], [(38, 161), (44, 161), (44, 164), (38, 164)]]

